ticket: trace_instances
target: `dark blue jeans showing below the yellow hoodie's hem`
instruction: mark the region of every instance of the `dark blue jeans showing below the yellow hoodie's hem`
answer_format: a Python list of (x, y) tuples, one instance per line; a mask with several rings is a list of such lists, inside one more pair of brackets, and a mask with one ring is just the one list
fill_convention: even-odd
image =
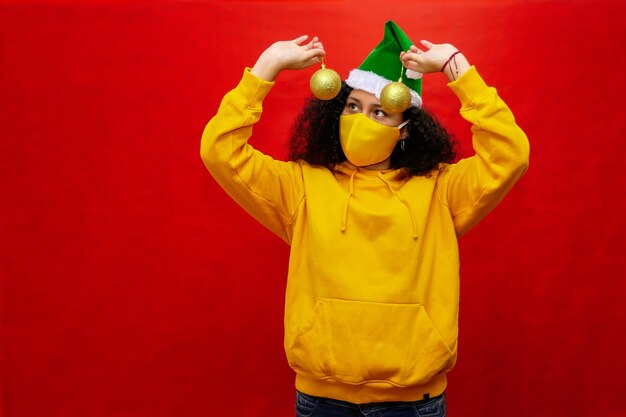
[(446, 417), (441, 394), (415, 402), (353, 404), (296, 391), (296, 417)]

